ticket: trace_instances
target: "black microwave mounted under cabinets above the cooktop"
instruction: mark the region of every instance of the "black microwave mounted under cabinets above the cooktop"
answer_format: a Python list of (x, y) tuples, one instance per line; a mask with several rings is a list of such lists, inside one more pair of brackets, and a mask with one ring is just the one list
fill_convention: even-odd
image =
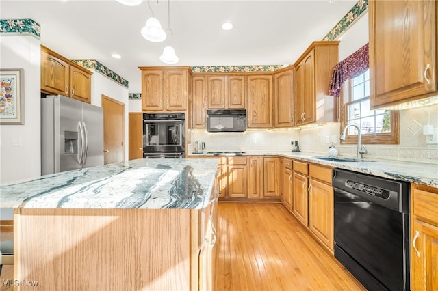
[(207, 110), (207, 131), (245, 131), (246, 110)]

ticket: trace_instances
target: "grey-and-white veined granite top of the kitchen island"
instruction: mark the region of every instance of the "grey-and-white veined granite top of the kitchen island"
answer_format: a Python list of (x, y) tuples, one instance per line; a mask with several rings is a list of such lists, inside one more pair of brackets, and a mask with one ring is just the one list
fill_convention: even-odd
[(0, 186), (0, 208), (179, 208), (208, 206), (217, 159), (144, 159)]

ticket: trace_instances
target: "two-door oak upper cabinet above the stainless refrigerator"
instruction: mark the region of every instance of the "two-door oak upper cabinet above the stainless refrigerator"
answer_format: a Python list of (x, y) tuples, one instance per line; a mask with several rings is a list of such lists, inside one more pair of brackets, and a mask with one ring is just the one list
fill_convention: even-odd
[(41, 92), (91, 103), (92, 72), (41, 46)]

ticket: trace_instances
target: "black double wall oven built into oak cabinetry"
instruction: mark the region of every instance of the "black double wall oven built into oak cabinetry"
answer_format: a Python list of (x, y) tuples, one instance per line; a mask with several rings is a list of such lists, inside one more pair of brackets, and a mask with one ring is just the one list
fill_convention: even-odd
[(185, 113), (143, 113), (143, 158), (185, 158)]

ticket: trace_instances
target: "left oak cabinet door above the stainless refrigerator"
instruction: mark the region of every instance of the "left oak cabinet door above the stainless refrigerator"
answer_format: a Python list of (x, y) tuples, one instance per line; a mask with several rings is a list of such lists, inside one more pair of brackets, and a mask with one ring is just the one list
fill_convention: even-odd
[(70, 96), (70, 65), (41, 51), (41, 91)]

